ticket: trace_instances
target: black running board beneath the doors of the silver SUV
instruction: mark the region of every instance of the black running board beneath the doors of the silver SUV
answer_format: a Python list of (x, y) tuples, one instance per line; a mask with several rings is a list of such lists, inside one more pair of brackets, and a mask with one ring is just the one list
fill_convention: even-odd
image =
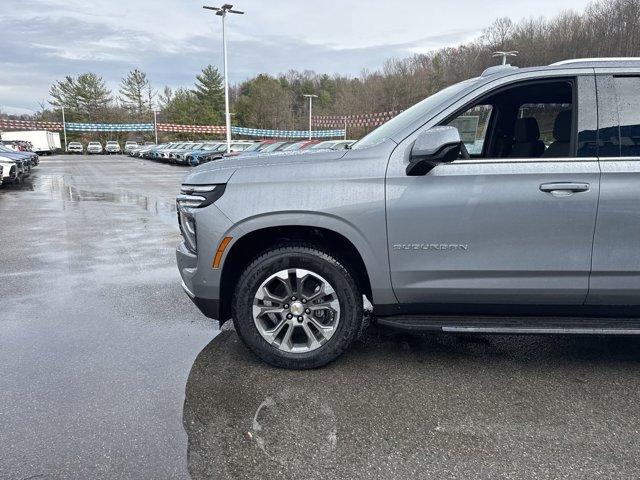
[(416, 316), (379, 317), (385, 327), (414, 332), (640, 335), (639, 318)]

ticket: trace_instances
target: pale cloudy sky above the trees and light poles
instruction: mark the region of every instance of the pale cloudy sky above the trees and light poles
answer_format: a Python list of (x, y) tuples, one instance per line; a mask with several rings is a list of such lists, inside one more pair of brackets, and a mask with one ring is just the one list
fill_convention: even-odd
[[(222, 64), (220, 19), (203, 1), (214, 0), (2, 0), (0, 110), (37, 110), (52, 83), (87, 71), (114, 89), (133, 68), (156, 87), (191, 85), (203, 66)], [(289, 69), (357, 75), (472, 39), (498, 16), (549, 17), (587, 3), (237, 0), (246, 15), (228, 19), (231, 81)]]

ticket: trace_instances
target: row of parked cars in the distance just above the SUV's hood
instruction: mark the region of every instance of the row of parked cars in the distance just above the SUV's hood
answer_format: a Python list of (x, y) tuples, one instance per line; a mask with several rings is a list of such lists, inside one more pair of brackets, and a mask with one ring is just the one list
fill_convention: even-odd
[(196, 166), (227, 156), (268, 155), (305, 150), (339, 150), (348, 148), (353, 143), (354, 140), (236, 140), (231, 142), (230, 153), (227, 153), (226, 142), (190, 141), (143, 145), (134, 147), (127, 153), (133, 157), (146, 158), (148, 160)]

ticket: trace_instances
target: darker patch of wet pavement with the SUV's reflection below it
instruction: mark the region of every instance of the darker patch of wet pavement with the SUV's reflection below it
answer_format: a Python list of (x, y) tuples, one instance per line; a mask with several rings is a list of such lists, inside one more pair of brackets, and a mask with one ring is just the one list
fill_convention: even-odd
[(640, 341), (406, 336), (373, 327), (315, 371), (256, 360), (233, 330), (189, 375), (201, 478), (637, 478)]

